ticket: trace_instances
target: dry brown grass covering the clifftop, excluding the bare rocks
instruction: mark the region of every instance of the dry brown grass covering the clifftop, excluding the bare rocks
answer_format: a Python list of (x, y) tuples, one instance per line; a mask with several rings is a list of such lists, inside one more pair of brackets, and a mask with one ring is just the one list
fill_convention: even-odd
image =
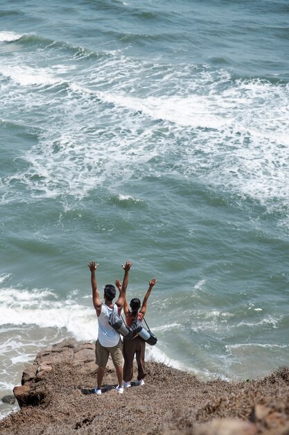
[[(42, 381), (33, 381), (35, 407), (0, 421), (1, 434), (166, 434), (189, 431), (213, 418), (249, 420), (254, 404), (263, 404), (289, 422), (289, 368), (243, 382), (199, 381), (161, 363), (147, 363), (146, 384), (119, 395), (114, 370), (107, 370), (107, 391), (93, 394), (96, 370), (82, 374), (58, 363)], [(266, 427), (259, 427), (266, 434)], [(184, 432), (183, 432), (184, 433)]]

